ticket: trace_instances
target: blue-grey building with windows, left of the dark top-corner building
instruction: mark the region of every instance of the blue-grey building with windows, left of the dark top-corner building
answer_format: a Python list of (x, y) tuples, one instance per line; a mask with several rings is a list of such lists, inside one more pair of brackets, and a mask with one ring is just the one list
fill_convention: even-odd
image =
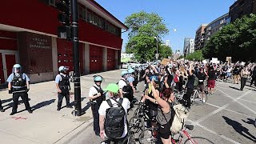
[[(215, 33), (218, 32), (218, 30), (222, 30), (223, 26), (226, 26), (230, 23), (230, 16), (229, 14), (224, 14), (219, 18), (216, 18), (213, 22), (210, 22), (206, 28), (205, 28), (205, 38), (206, 42), (210, 40), (210, 37), (213, 36)], [(204, 43), (204, 46), (206, 45), (206, 42)]]

